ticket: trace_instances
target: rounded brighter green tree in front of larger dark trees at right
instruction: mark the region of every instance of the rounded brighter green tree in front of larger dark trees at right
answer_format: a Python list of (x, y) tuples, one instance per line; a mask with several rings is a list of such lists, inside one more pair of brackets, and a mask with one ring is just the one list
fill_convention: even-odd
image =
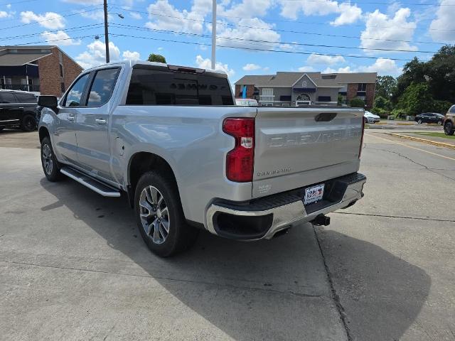
[(432, 111), (433, 107), (433, 96), (428, 85), (424, 83), (412, 82), (397, 103), (397, 109), (402, 109), (405, 114), (413, 116)]

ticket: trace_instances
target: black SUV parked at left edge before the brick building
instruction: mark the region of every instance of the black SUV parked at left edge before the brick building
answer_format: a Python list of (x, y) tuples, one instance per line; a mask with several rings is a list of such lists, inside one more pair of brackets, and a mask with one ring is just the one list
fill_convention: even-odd
[(36, 102), (31, 92), (0, 90), (0, 131), (6, 127), (35, 130)]

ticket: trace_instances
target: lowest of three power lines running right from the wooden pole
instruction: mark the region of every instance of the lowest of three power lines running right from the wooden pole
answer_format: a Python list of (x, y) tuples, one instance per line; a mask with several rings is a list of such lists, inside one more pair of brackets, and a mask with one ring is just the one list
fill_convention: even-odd
[[(209, 43), (195, 43), (192, 41), (181, 41), (181, 40), (173, 40), (173, 39), (161, 39), (161, 38), (151, 38), (151, 37), (141, 37), (141, 36), (131, 36), (122, 33), (109, 33), (111, 36), (118, 36), (118, 37), (127, 37), (127, 38), (138, 38), (138, 39), (146, 39), (146, 40), (156, 40), (156, 41), (165, 41), (167, 43), (182, 43), (187, 45), (205, 45), (210, 46)], [(255, 51), (263, 51), (263, 52), (274, 52), (274, 53), (289, 53), (289, 54), (299, 54), (299, 55), (329, 55), (333, 57), (346, 57), (346, 58), (364, 58), (364, 59), (379, 59), (380, 57), (372, 57), (367, 55), (343, 55), (343, 54), (331, 54), (331, 53), (318, 53), (318, 52), (303, 52), (303, 51), (289, 51), (289, 50), (268, 50), (262, 48), (245, 48), (240, 46), (230, 46), (230, 45), (217, 45), (218, 48), (234, 48), (238, 50), (255, 50)], [(410, 61), (410, 59), (402, 59), (402, 58), (382, 58), (382, 59), (390, 59), (390, 60), (398, 60), (398, 61)], [(426, 60), (422, 60), (426, 61)]]

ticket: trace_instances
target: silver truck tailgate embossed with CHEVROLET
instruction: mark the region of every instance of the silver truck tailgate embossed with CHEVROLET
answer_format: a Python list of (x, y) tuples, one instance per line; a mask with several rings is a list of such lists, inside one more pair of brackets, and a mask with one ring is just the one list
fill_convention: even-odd
[(358, 171), (363, 110), (257, 108), (252, 196)]

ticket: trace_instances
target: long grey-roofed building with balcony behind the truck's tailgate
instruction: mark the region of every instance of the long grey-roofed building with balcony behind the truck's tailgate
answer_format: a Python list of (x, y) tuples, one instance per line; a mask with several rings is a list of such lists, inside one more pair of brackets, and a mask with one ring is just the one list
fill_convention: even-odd
[(246, 75), (235, 82), (235, 97), (253, 98), (265, 107), (347, 104), (358, 97), (365, 109), (373, 107), (376, 72), (277, 72)]

